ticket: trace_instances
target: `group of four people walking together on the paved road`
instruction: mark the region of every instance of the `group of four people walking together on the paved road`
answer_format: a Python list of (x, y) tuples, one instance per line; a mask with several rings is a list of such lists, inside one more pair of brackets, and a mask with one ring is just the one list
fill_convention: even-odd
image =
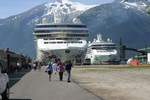
[(73, 67), (71, 61), (68, 61), (68, 62), (66, 61), (65, 63), (54, 62), (53, 64), (50, 63), (47, 66), (45, 72), (48, 73), (49, 81), (51, 81), (51, 75), (52, 75), (53, 71), (55, 74), (56, 74), (56, 71), (58, 71), (59, 72), (59, 79), (60, 79), (60, 81), (62, 81), (63, 80), (63, 73), (66, 70), (67, 75), (68, 75), (67, 82), (69, 83), (69, 82), (71, 82), (70, 81), (71, 67)]

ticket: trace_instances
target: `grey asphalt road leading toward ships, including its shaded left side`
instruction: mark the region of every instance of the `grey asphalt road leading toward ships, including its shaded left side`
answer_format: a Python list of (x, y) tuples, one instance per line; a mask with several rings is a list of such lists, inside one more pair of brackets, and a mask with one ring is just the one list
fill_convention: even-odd
[(73, 80), (67, 83), (66, 75), (60, 81), (58, 73), (53, 73), (49, 81), (45, 69), (10, 74), (10, 100), (102, 100)]

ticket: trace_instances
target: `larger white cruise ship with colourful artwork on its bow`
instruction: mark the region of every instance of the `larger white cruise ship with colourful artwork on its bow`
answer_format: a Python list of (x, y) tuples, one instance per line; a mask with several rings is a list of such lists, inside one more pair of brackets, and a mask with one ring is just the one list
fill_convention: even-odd
[(54, 16), (54, 23), (43, 19), (37, 24), (34, 33), (37, 61), (49, 63), (59, 59), (61, 62), (85, 58), (88, 47), (88, 29), (77, 18), (72, 23), (62, 23), (60, 15)]

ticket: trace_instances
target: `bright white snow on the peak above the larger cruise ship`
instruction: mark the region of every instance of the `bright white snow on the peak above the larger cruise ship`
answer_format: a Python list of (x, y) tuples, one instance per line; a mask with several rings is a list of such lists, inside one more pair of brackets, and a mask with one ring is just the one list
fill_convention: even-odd
[(54, 13), (59, 10), (59, 12), (61, 12), (62, 14), (61, 17), (64, 19), (64, 21), (68, 21), (95, 6), (96, 5), (83, 5), (81, 3), (71, 2), (68, 0), (58, 0), (54, 3), (45, 4), (45, 12), (42, 18), (47, 16), (53, 16)]

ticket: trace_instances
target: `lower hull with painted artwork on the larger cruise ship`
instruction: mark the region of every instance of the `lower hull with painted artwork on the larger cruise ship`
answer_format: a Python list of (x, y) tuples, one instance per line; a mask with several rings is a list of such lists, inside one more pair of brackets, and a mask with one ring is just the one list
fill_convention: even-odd
[(55, 49), (55, 50), (38, 50), (37, 59), (38, 61), (49, 63), (55, 62), (56, 59), (60, 59), (61, 62), (71, 61), (75, 62), (76, 59), (80, 58), (81, 61), (85, 58), (86, 49)]

